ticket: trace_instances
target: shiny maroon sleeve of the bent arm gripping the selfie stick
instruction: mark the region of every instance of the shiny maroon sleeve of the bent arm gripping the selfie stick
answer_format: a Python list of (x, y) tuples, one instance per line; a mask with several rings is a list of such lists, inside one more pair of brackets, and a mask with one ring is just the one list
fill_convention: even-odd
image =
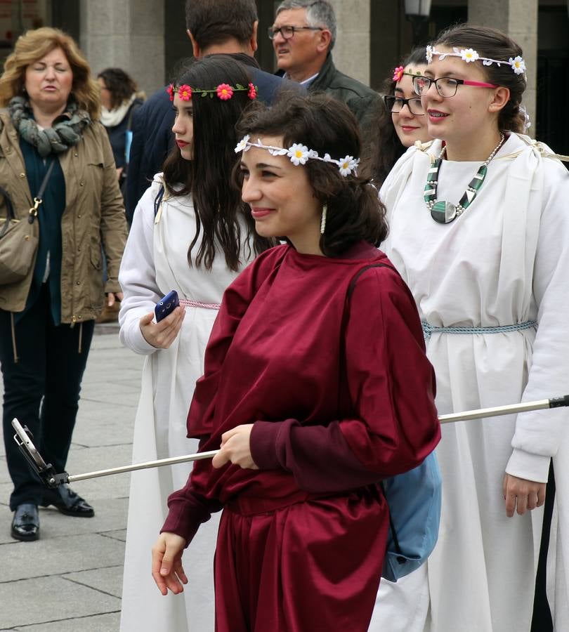
[(257, 421), (251, 456), (283, 468), (302, 489), (351, 489), (410, 470), (440, 440), (435, 377), (417, 308), (390, 268), (373, 268), (355, 286), (346, 323), (346, 379), (353, 419), (328, 426)]

